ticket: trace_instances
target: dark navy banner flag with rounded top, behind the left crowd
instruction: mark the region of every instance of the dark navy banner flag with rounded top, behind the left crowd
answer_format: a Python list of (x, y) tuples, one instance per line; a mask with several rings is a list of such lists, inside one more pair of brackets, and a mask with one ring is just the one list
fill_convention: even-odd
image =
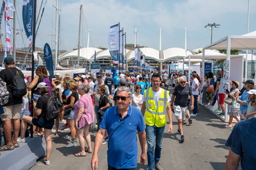
[(46, 69), (50, 73), (50, 77), (54, 78), (53, 73), (53, 54), (48, 43), (44, 44), (44, 61), (46, 62)]

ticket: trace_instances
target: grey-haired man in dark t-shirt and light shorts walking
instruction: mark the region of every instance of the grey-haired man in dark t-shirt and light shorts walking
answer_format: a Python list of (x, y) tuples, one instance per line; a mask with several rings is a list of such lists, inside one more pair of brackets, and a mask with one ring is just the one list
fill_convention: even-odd
[[(183, 120), (186, 119), (186, 110), (188, 109), (188, 96), (191, 99), (191, 108), (194, 109), (194, 97), (189, 84), (186, 83), (186, 77), (182, 76), (178, 78), (179, 85), (174, 89), (173, 95), (171, 96), (171, 110), (174, 112), (177, 119), (177, 133), (181, 135), (180, 141), (184, 141), (183, 135)], [(174, 105), (173, 105), (174, 102)]]

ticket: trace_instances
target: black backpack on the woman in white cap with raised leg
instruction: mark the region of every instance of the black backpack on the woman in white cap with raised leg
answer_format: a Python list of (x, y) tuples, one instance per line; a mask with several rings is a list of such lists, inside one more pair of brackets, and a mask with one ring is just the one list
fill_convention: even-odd
[(59, 109), (60, 105), (57, 99), (54, 95), (51, 95), (51, 97), (48, 97), (47, 106), (46, 106), (46, 113), (43, 115), (46, 120), (55, 120), (55, 118), (59, 117)]

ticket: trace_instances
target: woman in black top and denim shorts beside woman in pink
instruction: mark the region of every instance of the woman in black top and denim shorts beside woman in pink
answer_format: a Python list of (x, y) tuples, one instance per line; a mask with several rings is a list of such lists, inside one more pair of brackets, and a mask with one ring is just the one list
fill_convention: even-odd
[(70, 113), (68, 114), (68, 127), (70, 128), (71, 133), (71, 142), (68, 143), (66, 148), (70, 148), (72, 146), (76, 146), (75, 137), (76, 137), (76, 129), (74, 129), (74, 104), (79, 100), (79, 93), (76, 91), (78, 85), (76, 83), (70, 83), (68, 88), (72, 92), (71, 95), (67, 99), (66, 105), (62, 106), (63, 110), (68, 110), (71, 108)]

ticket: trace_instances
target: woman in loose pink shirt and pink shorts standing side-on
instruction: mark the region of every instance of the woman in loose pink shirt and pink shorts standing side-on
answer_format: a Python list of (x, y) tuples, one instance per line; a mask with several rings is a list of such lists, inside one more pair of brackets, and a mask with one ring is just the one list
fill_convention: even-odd
[[(91, 101), (91, 95), (87, 94), (89, 92), (89, 85), (79, 85), (78, 91), (81, 98), (74, 105), (74, 122), (76, 133), (79, 137), (81, 152), (74, 154), (74, 156), (86, 156), (85, 152), (92, 153), (89, 126), (94, 122), (94, 105)], [(83, 136), (85, 136), (85, 139)], [(88, 146), (86, 150), (85, 141)]]

